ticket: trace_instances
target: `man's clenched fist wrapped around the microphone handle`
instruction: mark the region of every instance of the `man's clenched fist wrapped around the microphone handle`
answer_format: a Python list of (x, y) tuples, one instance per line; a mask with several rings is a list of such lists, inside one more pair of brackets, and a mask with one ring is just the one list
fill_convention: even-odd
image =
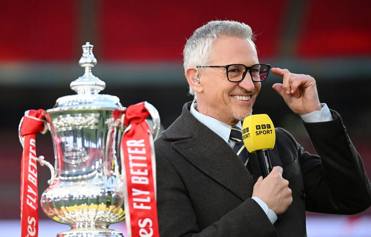
[(253, 197), (262, 199), (276, 215), (285, 212), (292, 203), (289, 181), (282, 178), (282, 172), (280, 166), (273, 167), (265, 179), (260, 176), (253, 189)]

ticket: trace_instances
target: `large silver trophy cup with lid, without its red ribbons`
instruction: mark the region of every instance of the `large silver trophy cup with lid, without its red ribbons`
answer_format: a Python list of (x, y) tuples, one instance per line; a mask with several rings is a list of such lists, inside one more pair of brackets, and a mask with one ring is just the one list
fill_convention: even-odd
[[(119, 158), (126, 108), (119, 98), (99, 94), (105, 82), (95, 77), (93, 45), (86, 42), (79, 65), (85, 74), (71, 82), (77, 92), (58, 98), (44, 112), (45, 134), (53, 140), (55, 165), (37, 158), (50, 169), (50, 185), (42, 194), (41, 207), (52, 220), (70, 226), (58, 237), (117, 237), (120, 231), (108, 226), (125, 219), (124, 182)], [(145, 107), (152, 117), (152, 134), (160, 129), (160, 117), (151, 104)], [(22, 119), (23, 120), (23, 119)], [(23, 146), (23, 137), (19, 139)]]

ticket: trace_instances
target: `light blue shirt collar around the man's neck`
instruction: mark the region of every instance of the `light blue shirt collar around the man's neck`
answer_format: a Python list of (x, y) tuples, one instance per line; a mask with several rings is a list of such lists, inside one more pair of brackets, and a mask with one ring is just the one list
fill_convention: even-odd
[[(214, 133), (218, 134), (225, 142), (228, 142), (232, 126), (223, 123), (217, 119), (201, 114), (197, 111), (197, 103), (191, 104), (191, 114), (196, 117), (198, 121), (203, 123), (206, 127), (211, 129)], [(242, 130), (241, 121), (236, 124)]]

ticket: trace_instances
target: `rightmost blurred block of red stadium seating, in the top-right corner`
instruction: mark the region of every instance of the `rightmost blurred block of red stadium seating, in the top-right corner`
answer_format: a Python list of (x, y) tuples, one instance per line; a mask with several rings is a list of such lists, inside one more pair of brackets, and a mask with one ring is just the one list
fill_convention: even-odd
[[(371, 53), (371, 1), (308, 1), (297, 52), (302, 57)], [(300, 30), (299, 29), (299, 30)]]

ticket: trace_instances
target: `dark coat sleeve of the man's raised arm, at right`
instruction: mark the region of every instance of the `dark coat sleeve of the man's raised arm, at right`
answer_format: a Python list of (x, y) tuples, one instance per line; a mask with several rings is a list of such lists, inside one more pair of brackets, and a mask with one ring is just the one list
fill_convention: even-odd
[(334, 120), (303, 122), (318, 155), (303, 151), (293, 137), (306, 193), (306, 211), (357, 214), (371, 205), (371, 186), (361, 157), (353, 146), (338, 113)]

